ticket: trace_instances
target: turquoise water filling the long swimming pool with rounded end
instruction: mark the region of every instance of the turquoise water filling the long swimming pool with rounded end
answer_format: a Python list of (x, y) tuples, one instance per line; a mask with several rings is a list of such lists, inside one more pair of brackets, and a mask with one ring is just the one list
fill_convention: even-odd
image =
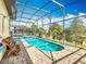
[(56, 44), (44, 39), (38, 39), (34, 37), (23, 37), (23, 39), (26, 40), (30, 46), (47, 52), (56, 52), (64, 49), (63, 46)]

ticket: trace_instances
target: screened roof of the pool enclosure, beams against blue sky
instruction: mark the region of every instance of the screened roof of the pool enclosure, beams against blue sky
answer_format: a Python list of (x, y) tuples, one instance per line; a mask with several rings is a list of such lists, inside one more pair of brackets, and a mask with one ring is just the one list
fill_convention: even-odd
[(78, 16), (79, 13), (86, 13), (86, 0), (17, 0), (16, 22), (32, 23), (41, 18), (62, 17), (62, 9), (65, 9), (65, 16), (69, 14)]

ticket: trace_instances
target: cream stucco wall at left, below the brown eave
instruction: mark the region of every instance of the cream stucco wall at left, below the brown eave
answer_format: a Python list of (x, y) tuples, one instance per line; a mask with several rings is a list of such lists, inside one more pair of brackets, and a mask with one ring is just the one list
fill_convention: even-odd
[(0, 0), (0, 35), (10, 36), (10, 16), (3, 0)]

